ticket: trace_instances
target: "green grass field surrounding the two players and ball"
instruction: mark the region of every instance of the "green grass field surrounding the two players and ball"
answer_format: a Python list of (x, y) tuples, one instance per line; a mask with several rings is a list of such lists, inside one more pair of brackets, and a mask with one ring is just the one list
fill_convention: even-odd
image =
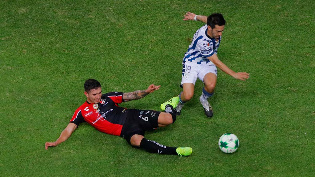
[[(0, 1), (0, 176), (315, 176), (315, 16), (311, 0)], [(181, 61), (203, 23), (186, 11), (222, 13), (218, 56), (246, 82), (218, 72), (206, 118), (199, 96), (177, 121), (146, 134), (190, 157), (150, 154), (82, 124), (55, 141), (85, 100), (103, 92), (161, 89), (127, 108), (155, 109), (181, 88)], [(218, 148), (224, 133), (239, 149)]]

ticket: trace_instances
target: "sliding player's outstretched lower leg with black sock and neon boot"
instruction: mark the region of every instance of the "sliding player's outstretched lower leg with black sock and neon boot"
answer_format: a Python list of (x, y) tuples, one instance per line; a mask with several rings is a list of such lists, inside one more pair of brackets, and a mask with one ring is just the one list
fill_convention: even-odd
[(169, 147), (164, 146), (156, 141), (147, 140), (143, 135), (134, 134), (130, 139), (130, 144), (135, 147), (143, 148), (150, 153), (173, 154), (179, 156), (189, 156), (192, 154), (190, 147)]

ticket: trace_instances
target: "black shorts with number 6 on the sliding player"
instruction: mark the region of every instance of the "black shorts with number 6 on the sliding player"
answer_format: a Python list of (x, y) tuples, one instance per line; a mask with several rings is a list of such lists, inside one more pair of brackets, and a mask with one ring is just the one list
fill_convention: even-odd
[(135, 134), (144, 135), (145, 131), (158, 128), (157, 119), (160, 111), (128, 109), (127, 119), (123, 124), (121, 135), (130, 144), (130, 139)]

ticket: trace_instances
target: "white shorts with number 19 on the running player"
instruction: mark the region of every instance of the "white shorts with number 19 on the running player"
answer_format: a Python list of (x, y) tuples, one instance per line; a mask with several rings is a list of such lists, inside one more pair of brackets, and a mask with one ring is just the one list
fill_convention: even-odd
[(186, 61), (183, 63), (183, 73), (181, 84), (183, 83), (193, 83), (195, 84), (197, 78), (199, 78), (203, 82), (203, 77), (211, 72), (217, 76), (217, 68), (215, 64), (212, 62), (204, 63), (204, 64), (196, 64), (190, 61)]

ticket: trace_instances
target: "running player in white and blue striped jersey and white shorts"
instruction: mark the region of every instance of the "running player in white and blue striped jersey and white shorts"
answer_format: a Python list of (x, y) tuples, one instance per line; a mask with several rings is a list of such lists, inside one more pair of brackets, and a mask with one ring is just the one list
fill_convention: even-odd
[[(180, 114), (184, 103), (192, 98), (195, 83), (197, 78), (199, 78), (204, 83), (203, 92), (199, 100), (203, 105), (205, 114), (208, 117), (212, 117), (213, 110), (208, 99), (214, 94), (217, 80), (216, 67), (219, 67), (222, 71), (232, 77), (243, 81), (249, 78), (249, 73), (234, 72), (222, 63), (217, 56), (217, 50), (221, 43), (222, 31), (224, 30), (226, 23), (222, 14), (211, 14), (207, 17), (187, 12), (184, 17), (183, 20), (199, 20), (207, 24), (196, 31), (192, 43), (189, 45), (183, 58), (181, 80), (183, 91), (179, 94), (179, 103), (176, 111)], [(165, 109), (165, 105), (176, 100), (178, 100), (178, 98), (173, 97), (169, 101), (161, 104), (161, 109)]]

